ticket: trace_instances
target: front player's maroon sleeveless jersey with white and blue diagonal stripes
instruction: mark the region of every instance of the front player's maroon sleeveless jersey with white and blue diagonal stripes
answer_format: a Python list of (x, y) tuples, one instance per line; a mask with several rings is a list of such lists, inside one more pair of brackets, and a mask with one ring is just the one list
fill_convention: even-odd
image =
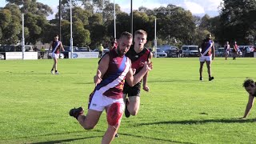
[(131, 62), (126, 56), (118, 56), (112, 49), (109, 52), (110, 62), (108, 70), (103, 75), (102, 82), (100, 82), (95, 90), (98, 90), (106, 97), (122, 98), (122, 90), (126, 79), (126, 74), (130, 70)]

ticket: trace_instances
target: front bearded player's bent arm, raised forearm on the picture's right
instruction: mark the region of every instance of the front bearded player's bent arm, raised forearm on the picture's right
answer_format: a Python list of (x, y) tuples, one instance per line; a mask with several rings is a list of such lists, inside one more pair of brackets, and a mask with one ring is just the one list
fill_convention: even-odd
[(126, 82), (129, 86), (136, 85), (139, 81), (142, 80), (144, 75), (148, 70), (152, 69), (152, 62), (145, 62), (142, 70), (138, 72), (138, 74), (133, 75), (133, 70), (130, 68), (129, 72), (126, 74)]

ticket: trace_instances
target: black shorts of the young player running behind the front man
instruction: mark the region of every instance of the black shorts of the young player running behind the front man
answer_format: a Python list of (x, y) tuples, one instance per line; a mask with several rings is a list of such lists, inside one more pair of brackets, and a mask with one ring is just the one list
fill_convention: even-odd
[(133, 87), (130, 87), (128, 85), (128, 83), (125, 83), (125, 86), (122, 90), (123, 94), (128, 94), (128, 97), (131, 96), (138, 96), (141, 93), (141, 82), (138, 82), (136, 85), (134, 85)]

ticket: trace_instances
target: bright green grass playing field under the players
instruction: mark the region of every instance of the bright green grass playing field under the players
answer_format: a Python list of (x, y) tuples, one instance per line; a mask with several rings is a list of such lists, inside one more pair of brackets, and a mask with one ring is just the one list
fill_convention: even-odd
[[(98, 59), (0, 61), (0, 143), (100, 143), (102, 114), (94, 130), (83, 130), (70, 108), (87, 106)], [(113, 143), (254, 143), (255, 108), (244, 114), (246, 78), (256, 80), (256, 58), (216, 58), (214, 80), (199, 81), (198, 58), (154, 58), (150, 92), (142, 91), (136, 117), (122, 118)]]

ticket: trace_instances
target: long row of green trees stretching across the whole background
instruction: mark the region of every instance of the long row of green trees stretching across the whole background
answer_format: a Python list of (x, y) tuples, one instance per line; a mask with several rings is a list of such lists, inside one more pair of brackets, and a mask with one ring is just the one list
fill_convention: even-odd
[[(0, 10), (0, 27), (2, 44), (16, 44), (22, 38), (21, 14), (25, 14), (26, 43), (37, 41), (49, 42), (52, 33), (58, 34), (58, 15), (48, 22), (46, 16), (52, 14), (50, 6), (37, 0), (8, 0), (9, 2)], [(110, 0), (62, 0), (62, 42), (70, 45), (70, 5), (72, 6), (72, 19), (76, 46), (96, 46), (102, 41), (114, 37), (114, 3)], [(82, 5), (82, 6), (81, 6)], [(133, 32), (146, 30), (148, 41), (154, 41), (154, 20), (157, 18), (158, 45), (172, 44), (198, 44), (206, 33), (211, 33), (215, 41), (223, 44), (226, 40), (238, 42), (239, 45), (254, 44), (256, 42), (256, 1), (253, 0), (224, 0), (220, 6), (220, 15), (210, 18), (193, 16), (189, 10), (171, 3), (155, 9), (139, 7), (134, 10)], [(130, 14), (122, 12), (120, 6), (115, 4), (117, 37), (123, 31), (130, 32)], [(67, 21), (67, 22), (66, 22)], [(82, 23), (82, 25), (81, 25)], [(10, 26), (14, 26), (14, 34), (10, 34)], [(81, 31), (79, 31), (81, 30)], [(7, 34), (9, 33), (9, 34)], [(86, 34), (83, 34), (86, 33)], [(7, 38), (8, 37), (8, 38)], [(16, 42), (16, 43), (15, 43)]]

